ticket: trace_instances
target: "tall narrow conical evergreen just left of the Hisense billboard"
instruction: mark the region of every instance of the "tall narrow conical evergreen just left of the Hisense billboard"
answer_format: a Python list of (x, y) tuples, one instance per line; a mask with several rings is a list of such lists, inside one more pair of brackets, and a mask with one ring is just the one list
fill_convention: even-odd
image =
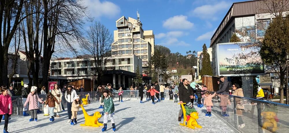
[(203, 76), (203, 75), (213, 76), (213, 70), (212, 70), (211, 61), (210, 61), (210, 55), (207, 51), (206, 44), (203, 45), (202, 69), (201, 69), (200, 74), (201, 74), (201, 76)]

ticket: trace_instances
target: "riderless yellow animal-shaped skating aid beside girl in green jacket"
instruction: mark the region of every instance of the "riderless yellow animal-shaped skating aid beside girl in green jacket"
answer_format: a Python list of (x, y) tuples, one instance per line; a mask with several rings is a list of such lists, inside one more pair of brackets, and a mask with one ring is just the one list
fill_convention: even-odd
[(99, 112), (95, 112), (93, 116), (90, 116), (85, 111), (83, 105), (79, 105), (82, 108), (83, 114), (84, 114), (84, 124), (80, 124), (81, 126), (91, 126), (91, 127), (99, 127), (103, 126), (102, 123), (98, 122), (98, 119), (101, 117), (101, 114)]

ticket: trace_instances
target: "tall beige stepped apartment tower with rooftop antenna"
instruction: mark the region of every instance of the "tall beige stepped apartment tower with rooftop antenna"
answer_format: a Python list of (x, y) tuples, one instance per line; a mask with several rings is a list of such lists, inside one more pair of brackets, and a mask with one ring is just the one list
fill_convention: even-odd
[(144, 31), (139, 19), (125, 18), (116, 20), (114, 42), (112, 43), (112, 57), (136, 55), (142, 59), (142, 74), (148, 74), (148, 61), (154, 53), (154, 34), (152, 30)]

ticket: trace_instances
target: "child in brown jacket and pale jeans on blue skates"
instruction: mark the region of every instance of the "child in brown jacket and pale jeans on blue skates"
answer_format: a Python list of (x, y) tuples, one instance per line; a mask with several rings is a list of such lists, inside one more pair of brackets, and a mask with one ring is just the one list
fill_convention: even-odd
[(45, 107), (48, 104), (48, 108), (49, 108), (49, 120), (50, 121), (54, 121), (54, 107), (55, 107), (55, 102), (57, 104), (59, 104), (58, 100), (52, 95), (51, 92), (47, 93), (47, 98), (46, 98), (46, 102), (45, 102)]

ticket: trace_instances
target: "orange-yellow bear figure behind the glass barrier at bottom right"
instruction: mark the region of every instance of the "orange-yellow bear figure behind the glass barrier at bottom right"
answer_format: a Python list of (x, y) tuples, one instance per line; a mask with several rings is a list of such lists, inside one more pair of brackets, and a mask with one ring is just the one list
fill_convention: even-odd
[(277, 122), (274, 118), (276, 116), (276, 113), (270, 112), (270, 111), (264, 111), (261, 113), (261, 116), (265, 118), (263, 122), (264, 129), (267, 130), (268, 128), (271, 128), (273, 132), (275, 132), (278, 129)]

